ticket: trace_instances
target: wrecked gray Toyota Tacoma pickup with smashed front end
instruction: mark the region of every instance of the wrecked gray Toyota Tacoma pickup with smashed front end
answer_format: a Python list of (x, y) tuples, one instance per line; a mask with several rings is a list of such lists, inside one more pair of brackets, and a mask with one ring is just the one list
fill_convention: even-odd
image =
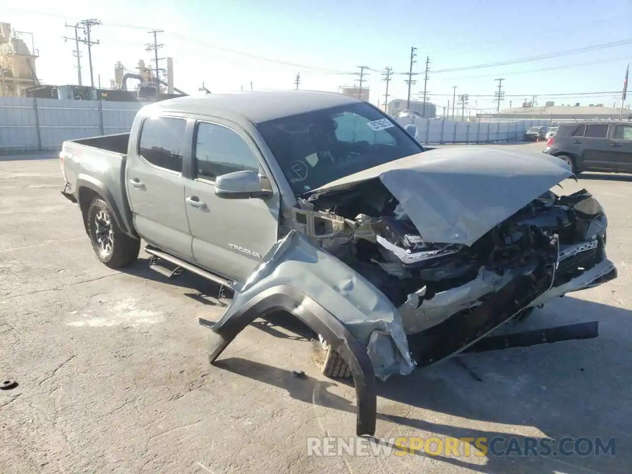
[(358, 434), (375, 377), (410, 374), (571, 291), (616, 278), (607, 219), (555, 157), (424, 150), (374, 106), (246, 92), (143, 107), (130, 133), (64, 142), (64, 195), (97, 257), (184, 270), (233, 292), (210, 362), (246, 325), (288, 313), (325, 375), (353, 376)]

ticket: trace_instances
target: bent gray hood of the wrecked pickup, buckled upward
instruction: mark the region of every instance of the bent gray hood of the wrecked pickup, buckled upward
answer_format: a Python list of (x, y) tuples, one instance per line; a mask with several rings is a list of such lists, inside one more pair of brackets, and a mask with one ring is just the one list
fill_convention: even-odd
[(563, 179), (561, 159), (512, 145), (429, 150), (345, 176), (316, 193), (378, 178), (423, 240), (471, 245)]

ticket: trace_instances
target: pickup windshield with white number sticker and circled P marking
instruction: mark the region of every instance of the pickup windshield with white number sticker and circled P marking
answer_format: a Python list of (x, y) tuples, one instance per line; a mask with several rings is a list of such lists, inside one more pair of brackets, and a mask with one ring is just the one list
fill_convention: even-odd
[(257, 129), (295, 195), (363, 169), (423, 151), (365, 102), (260, 123)]

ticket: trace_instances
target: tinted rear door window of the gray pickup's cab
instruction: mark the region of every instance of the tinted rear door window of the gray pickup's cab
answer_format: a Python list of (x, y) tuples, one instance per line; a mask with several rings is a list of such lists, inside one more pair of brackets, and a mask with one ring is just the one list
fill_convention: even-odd
[(138, 154), (154, 166), (181, 173), (185, 129), (185, 119), (169, 117), (145, 119), (140, 131)]

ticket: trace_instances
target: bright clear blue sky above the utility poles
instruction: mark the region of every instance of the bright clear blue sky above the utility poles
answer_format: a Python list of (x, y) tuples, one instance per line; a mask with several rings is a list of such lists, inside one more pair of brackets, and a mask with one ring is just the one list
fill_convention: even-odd
[[(632, 41), (631, 0), (426, 0), (390, 4), (375, 0), (189, 0), (179, 4), (157, 0), (142, 6), (123, 0), (111, 0), (107, 5), (68, 0), (56, 6), (44, 0), (28, 0), (16, 5), (15, 1), (0, 0), (0, 21), (35, 33), (35, 47), (40, 49), (38, 74), (47, 83), (76, 83), (73, 44), (64, 43), (61, 37), (73, 33), (64, 27), (64, 21), (73, 23), (83, 18), (98, 18), (104, 23), (94, 28), (100, 44), (93, 50), (95, 77), (101, 76), (102, 85), (112, 78), (116, 61), (129, 69), (140, 58), (148, 61), (150, 56), (143, 46), (151, 40), (147, 31), (161, 28), (164, 33), (159, 40), (165, 45), (161, 55), (173, 56), (176, 87), (187, 92), (197, 90), (202, 81), (216, 92), (250, 88), (251, 81), (253, 88), (291, 88), (296, 73), (301, 75), (301, 88), (337, 90), (338, 86), (357, 83), (357, 76), (337, 71), (358, 71), (356, 66), (361, 65), (374, 70), (391, 66), (397, 73), (407, 71), (410, 47), (415, 46), (414, 70), (420, 74), (415, 77), (412, 91), (423, 90), (423, 63), (430, 56), (428, 95), (440, 107), (452, 99), (453, 85), (458, 86), (457, 94), (470, 94), (471, 107), (494, 106), (491, 97), (474, 96), (494, 94), (494, 79), (498, 77), (505, 79), (507, 97), (503, 107), (509, 106), (509, 100), (516, 106), (529, 95), (538, 95), (538, 104), (542, 105), (545, 100), (555, 100), (556, 104), (604, 102), (606, 106), (616, 102), (618, 107), (620, 92), (602, 96), (545, 95), (620, 91), (626, 65), (632, 61), (630, 42), (538, 61), (439, 72)], [(83, 54), (87, 66), (87, 54)], [(393, 76), (389, 92), (395, 97), (406, 97), (404, 78)], [(368, 86), (375, 103), (384, 100), (384, 82), (380, 79), (379, 71), (369, 71)], [(87, 68), (83, 82), (89, 82)]]

